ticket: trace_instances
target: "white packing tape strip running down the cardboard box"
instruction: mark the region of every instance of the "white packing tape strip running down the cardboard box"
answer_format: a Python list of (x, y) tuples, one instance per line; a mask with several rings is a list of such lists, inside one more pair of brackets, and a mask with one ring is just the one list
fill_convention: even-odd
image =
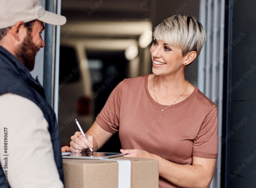
[(131, 161), (120, 159), (103, 159), (118, 162), (118, 188), (131, 188)]

